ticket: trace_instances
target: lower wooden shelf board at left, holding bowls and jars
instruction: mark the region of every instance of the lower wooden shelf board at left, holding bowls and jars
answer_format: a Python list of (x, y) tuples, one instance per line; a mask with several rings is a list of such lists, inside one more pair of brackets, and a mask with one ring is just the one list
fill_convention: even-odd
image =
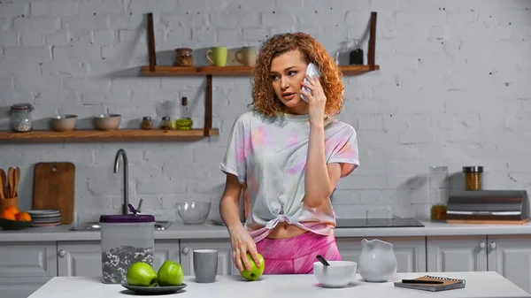
[[(206, 136), (218, 135), (219, 129), (211, 128)], [(0, 132), (0, 142), (60, 142), (60, 141), (191, 141), (205, 137), (203, 128), (191, 130), (142, 130), (119, 129), (114, 131), (74, 130), (55, 132), (34, 130), (27, 133)]]

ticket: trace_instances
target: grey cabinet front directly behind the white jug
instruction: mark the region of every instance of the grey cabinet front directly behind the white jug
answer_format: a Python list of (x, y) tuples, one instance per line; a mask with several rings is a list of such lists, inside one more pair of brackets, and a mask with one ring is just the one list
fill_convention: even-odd
[[(358, 262), (361, 255), (361, 241), (364, 238), (336, 238), (342, 260)], [(373, 238), (366, 238), (372, 240)], [(397, 272), (426, 271), (426, 237), (378, 237), (393, 244)]]

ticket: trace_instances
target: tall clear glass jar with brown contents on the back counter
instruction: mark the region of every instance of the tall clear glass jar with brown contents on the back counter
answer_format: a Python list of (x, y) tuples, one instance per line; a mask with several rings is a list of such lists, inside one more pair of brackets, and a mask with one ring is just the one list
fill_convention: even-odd
[(429, 201), (431, 219), (446, 219), (446, 204), (448, 202), (448, 166), (429, 167)]

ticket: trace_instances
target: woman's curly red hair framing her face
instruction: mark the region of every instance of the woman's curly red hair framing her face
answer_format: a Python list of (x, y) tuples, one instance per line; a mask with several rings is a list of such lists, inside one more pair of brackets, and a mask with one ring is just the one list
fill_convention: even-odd
[(343, 105), (342, 73), (315, 38), (300, 32), (273, 35), (260, 48), (252, 73), (252, 110), (268, 117), (275, 117), (283, 111), (284, 105), (273, 90), (270, 67), (274, 57), (291, 50), (299, 50), (308, 63), (312, 62), (319, 68), (319, 81), (327, 96), (325, 114), (339, 114)]

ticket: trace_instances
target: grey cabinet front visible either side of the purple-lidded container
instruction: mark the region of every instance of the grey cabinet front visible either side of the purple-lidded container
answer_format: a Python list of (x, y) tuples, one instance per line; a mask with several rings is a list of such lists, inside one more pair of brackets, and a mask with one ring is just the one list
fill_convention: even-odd
[[(155, 241), (153, 268), (165, 260), (179, 261), (179, 241)], [(102, 276), (100, 241), (58, 242), (58, 276)]]

